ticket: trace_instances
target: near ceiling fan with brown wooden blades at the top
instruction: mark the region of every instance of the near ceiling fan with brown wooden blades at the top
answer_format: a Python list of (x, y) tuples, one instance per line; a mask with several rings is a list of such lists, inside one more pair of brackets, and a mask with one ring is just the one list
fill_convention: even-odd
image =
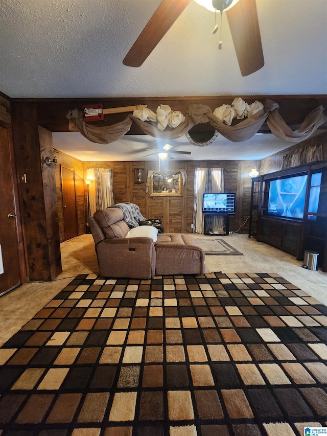
[[(195, 0), (197, 1), (197, 0)], [(161, 38), (174, 24), (191, 0), (162, 0), (148, 24), (123, 60), (127, 66), (141, 66)], [(261, 35), (255, 0), (212, 0), (214, 10), (226, 10), (242, 76), (248, 76), (264, 66)], [(232, 7), (231, 7), (232, 6)]]

